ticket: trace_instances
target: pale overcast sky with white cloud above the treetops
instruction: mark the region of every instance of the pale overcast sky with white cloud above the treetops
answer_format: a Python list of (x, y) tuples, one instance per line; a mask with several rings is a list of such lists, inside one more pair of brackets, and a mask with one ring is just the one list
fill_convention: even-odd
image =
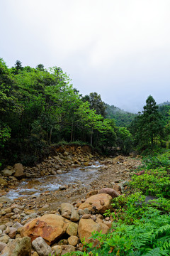
[(170, 100), (169, 0), (0, 0), (0, 58), (57, 66), (123, 110)]

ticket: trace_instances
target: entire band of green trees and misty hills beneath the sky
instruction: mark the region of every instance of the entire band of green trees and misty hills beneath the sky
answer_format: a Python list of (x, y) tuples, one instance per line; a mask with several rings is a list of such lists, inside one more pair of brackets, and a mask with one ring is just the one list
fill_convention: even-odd
[[(142, 113), (132, 114), (109, 106), (101, 95), (84, 97), (61, 68), (22, 66), (8, 68), (0, 60), (1, 164), (35, 164), (51, 145), (91, 144), (96, 149), (166, 146), (169, 142), (169, 104), (157, 106), (149, 96)], [(166, 102), (167, 103), (167, 102)]]

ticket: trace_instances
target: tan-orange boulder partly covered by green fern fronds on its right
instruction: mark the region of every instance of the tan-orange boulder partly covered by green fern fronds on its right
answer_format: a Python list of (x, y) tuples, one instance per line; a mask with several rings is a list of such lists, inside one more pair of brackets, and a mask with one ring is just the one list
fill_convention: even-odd
[(108, 232), (109, 228), (104, 223), (96, 223), (94, 220), (90, 219), (83, 219), (79, 221), (79, 238), (82, 241), (85, 239), (85, 242), (94, 242), (90, 237), (91, 233), (94, 231), (102, 232), (103, 234), (106, 234)]

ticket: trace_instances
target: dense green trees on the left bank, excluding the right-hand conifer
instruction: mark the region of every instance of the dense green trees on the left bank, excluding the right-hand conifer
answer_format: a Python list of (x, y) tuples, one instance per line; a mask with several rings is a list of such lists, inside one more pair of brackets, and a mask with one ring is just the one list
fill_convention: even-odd
[(59, 142), (128, 150), (124, 142), (130, 142), (130, 132), (105, 118), (96, 92), (82, 97), (61, 68), (23, 67), (19, 60), (8, 68), (1, 59), (0, 86), (2, 163), (8, 159), (33, 164), (47, 154), (49, 145)]

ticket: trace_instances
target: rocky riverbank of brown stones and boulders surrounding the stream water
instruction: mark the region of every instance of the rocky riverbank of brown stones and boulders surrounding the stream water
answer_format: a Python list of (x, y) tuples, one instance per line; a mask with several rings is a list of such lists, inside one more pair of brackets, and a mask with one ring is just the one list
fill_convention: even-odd
[[(91, 231), (108, 232), (112, 220), (105, 218), (103, 213), (111, 208), (111, 199), (123, 193), (140, 160), (126, 156), (105, 159), (91, 153), (81, 147), (57, 149), (38, 166), (8, 166), (5, 171), (12, 170), (12, 174), (8, 173), (10, 176), (1, 172), (3, 176), (0, 178), (6, 181), (1, 183), (0, 191), (1, 255), (48, 256), (50, 252), (64, 255), (68, 251), (82, 250), (81, 239), (85, 237), (89, 241)], [(63, 181), (57, 191), (45, 191), (39, 196), (23, 196), (14, 200), (6, 197), (8, 191), (16, 188), (23, 178), (55, 177), (61, 172), (67, 176), (71, 169), (91, 166), (96, 161), (101, 167), (88, 186), (84, 187), (82, 178), (76, 185), (64, 184)], [(17, 167), (23, 172), (22, 177), (16, 177)], [(102, 188), (105, 189), (102, 191)]]

